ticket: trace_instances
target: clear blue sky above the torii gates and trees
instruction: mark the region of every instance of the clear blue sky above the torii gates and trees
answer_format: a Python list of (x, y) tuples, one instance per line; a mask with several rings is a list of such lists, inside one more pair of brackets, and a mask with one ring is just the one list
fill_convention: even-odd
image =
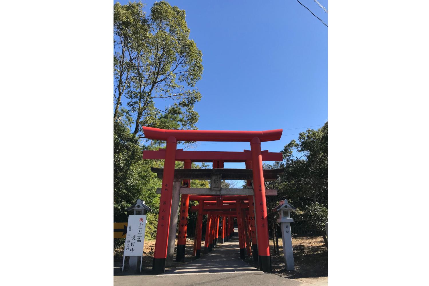
[[(149, 14), (154, 1), (142, 2)], [(204, 72), (196, 84), (202, 94), (195, 105), (199, 129), (282, 128), (281, 140), (261, 146), (280, 152), (306, 130), (295, 128), (326, 122), (328, 28), (296, 0), (167, 2), (186, 10), (190, 39), (203, 54)], [(317, 3), (300, 2), (328, 24), (328, 14)], [(329, 11), (326, 0), (319, 2)], [(160, 100), (157, 108), (165, 105)], [(195, 150), (243, 149), (250, 149), (249, 143), (200, 142)], [(245, 166), (226, 163), (225, 168)]]

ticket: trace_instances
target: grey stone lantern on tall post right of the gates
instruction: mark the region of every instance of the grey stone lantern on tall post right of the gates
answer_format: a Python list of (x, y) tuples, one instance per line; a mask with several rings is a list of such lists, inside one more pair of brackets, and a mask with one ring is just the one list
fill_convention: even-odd
[(291, 206), (287, 200), (284, 199), (274, 210), (279, 212), (277, 222), (281, 224), (281, 239), (283, 241), (285, 267), (286, 270), (293, 271), (295, 270), (295, 266), (293, 264), (292, 233), (290, 232), (290, 223), (293, 223), (293, 219), (290, 218), (290, 212), (296, 211), (296, 208)]

